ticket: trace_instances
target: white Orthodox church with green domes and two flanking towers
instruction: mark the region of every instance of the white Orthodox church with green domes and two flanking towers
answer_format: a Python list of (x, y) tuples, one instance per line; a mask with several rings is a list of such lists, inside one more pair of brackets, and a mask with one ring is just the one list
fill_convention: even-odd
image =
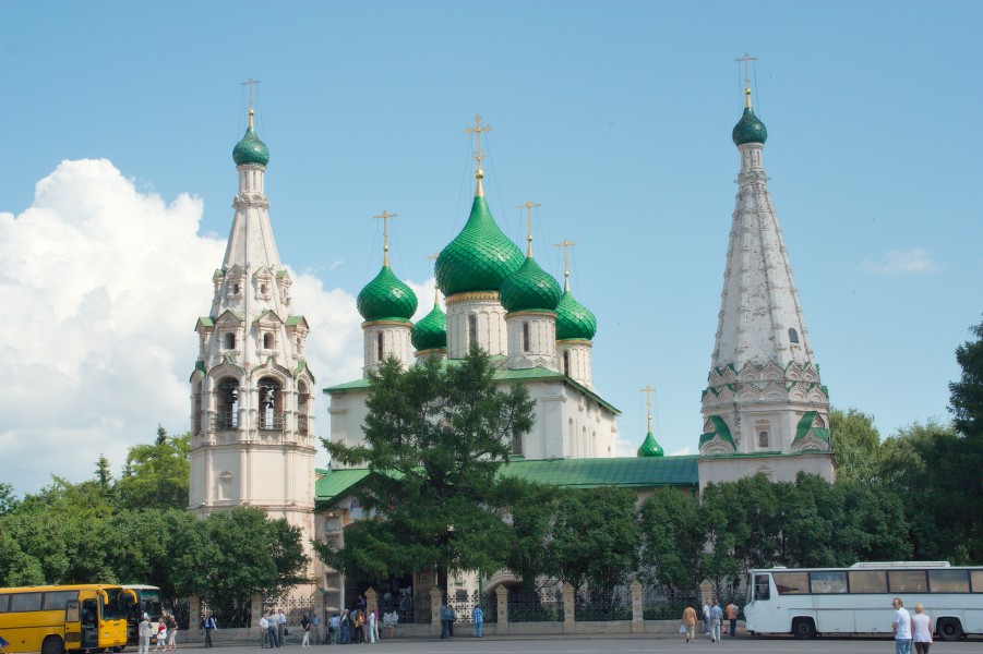
[[(368, 375), (385, 358), (404, 366), (424, 359), (453, 361), (477, 344), (492, 355), (503, 387), (523, 384), (536, 403), (530, 432), (513, 435), (513, 460), (504, 474), (582, 488), (631, 487), (640, 497), (666, 486), (698, 493), (711, 482), (758, 473), (791, 481), (806, 471), (832, 481), (827, 390), (767, 189), (762, 165), (767, 130), (752, 109), (750, 87), (744, 93), (744, 113), (732, 133), (741, 161), (739, 190), (703, 389), (698, 455), (664, 457), (649, 415), (637, 457), (615, 457), (620, 412), (591, 378), (597, 319), (574, 298), (565, 264), (561, 289), (536, 262), (531, 227), (523, 255), (496, 225), (482, 186), (481, 134), (489, 128), (480, 117), (468, 130), (477, 137), (470, 214), (434, 270), (446, 314), (435, 295), (433, 310), (411, 322), (418, 300), (389, 266), (385, 221), (391, 216), (383, 214), (382, 267), (357, 300), (364, 319), (363, 376), (323, 389), (331, 439), (362, 441)], [(344, 526), (361, 517), (352, 491), (368, 471), (314, 468), (308, 323), (292, 307), (290, 277), (274, 242), (263, 190), (269, 152), (255, 132), (251, 106), (232, 159), (239, 177), (232, 227), (221, 267), (212, 277), (211, 310), (195, 326), (190, 509), (205, 516), (255, 506), (286, 518), (308, 540), (339, 543)], [(535, 205), (526, 206), (531, 211)], [(314, 585), (329, 604), (343, 606), (345, 580), (320, 562), (314, 567)]]

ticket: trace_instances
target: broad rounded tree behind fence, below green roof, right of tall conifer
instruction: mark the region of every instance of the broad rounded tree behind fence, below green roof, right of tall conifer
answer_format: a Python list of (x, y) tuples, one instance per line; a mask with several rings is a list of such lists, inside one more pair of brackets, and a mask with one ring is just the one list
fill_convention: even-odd
[(561, 581), (606, 591), (638, 567), (642, 529), (631, 488), (563, 492), (550, 548)]

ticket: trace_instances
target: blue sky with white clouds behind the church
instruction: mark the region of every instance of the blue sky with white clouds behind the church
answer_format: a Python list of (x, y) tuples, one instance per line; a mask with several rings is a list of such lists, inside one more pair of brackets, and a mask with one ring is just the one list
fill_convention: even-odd
[(656, 438), (695, 452), (750, 52), (832, 404), (884, 436), (948, 420), (954, 350), (983, 312), (981, 25), (983, 4), (945, 1), (0, 3), (0, 458), (23, 462), (3, 481), (81, 481), (99, 453), (119, 471), (158, 423), (188, 429), (250, 76), (322, 386), (360, 374), (353, 298), (383, 209), (429, 310), (424, 257), (467, 217), (480, 113), (503, 230), (522, 243), (515, 207), (541, 203), (534, 247), (561, 280), (552, 244), (578, 243), (621, 453), (645, 436), (647, 384)]

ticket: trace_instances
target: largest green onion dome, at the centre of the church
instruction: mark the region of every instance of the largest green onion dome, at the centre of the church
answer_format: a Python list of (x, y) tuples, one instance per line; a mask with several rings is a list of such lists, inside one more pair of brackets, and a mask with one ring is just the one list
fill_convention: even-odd
[(523, 253), (495, 225), (484, 197), (475, 197), (460, 233), (444, 247), (434, 274), (444, 296), (498, 291), (523, 265)]

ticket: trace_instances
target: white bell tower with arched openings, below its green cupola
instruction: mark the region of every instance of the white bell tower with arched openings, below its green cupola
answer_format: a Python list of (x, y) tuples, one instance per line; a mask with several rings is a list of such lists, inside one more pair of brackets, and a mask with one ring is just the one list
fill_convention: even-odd
[[(314, 377), (308, 323), (292, 313), (263, 193), (265, 167), (242, 165), (214, 298), (199, 319), (191, 375), (191, 487), (197, 516), (259, 507), (314, 533)], [(310, 553), (309, 553), (310, 554)]]

